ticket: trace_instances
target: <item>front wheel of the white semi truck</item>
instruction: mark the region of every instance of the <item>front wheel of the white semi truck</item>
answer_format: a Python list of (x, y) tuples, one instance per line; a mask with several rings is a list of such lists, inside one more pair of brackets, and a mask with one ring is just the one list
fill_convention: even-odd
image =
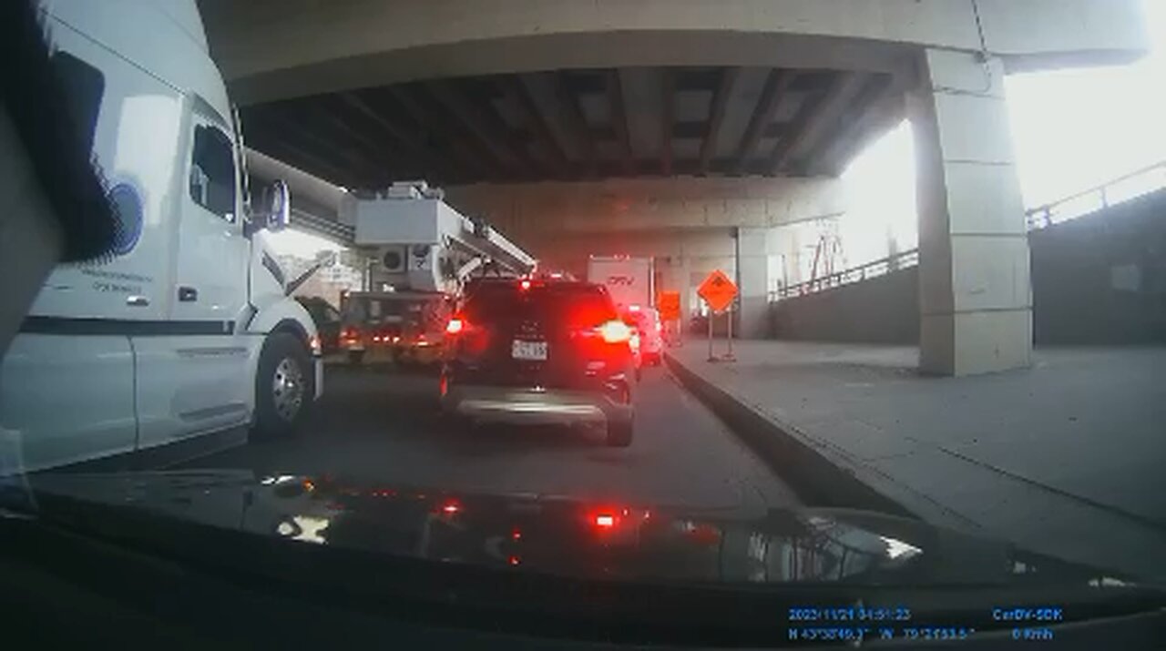
[(255, 374), (255, 433), (287, 437), (303, 422), (316, 395), (308, 349), (293, 334), (276, 332), (264, 342)]

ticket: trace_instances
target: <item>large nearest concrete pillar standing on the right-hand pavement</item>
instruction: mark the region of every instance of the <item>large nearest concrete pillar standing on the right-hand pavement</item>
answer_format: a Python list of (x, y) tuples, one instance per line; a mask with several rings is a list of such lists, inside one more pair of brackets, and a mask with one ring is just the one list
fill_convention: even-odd
[(919, 205), (919, 366), (969, 375), (1030, 363), (1024, 203), (998, 59), (925, 50), (907, 106)]

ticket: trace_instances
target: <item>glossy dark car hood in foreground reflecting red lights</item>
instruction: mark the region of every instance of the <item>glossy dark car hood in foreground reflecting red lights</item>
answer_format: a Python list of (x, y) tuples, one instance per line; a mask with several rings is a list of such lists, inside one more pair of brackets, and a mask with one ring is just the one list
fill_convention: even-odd
[[(857, 585), (1123, 583), (1100, 569), (845, 509), (742, 519), (651, 504), (251, 472), (42, 475), (40, 497), (146, 509), (298, 544), (580, 578)], [(42, 500), (47, 517), (51, 500)]]

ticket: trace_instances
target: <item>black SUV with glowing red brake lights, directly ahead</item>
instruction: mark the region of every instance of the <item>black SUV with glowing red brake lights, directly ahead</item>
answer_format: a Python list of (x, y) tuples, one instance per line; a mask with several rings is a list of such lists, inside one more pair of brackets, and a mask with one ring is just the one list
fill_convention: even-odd
[(448, 413), (506, 423), (606, 423), (632, 443), (631, 328), (602, 285), (473, 281), (447, 327), (441, 398)]

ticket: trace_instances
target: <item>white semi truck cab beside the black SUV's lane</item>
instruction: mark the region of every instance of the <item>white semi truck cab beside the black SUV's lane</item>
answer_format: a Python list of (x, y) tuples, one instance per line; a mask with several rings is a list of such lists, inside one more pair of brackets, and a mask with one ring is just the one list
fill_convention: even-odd
[(0, 474), (292, 431), (323, 385), (315, 325), (265, 242), (287, 186), (252, 210), (195, 0), (42, 7), (119, 235), (104, 260), (50, 274), (0, 366)]

